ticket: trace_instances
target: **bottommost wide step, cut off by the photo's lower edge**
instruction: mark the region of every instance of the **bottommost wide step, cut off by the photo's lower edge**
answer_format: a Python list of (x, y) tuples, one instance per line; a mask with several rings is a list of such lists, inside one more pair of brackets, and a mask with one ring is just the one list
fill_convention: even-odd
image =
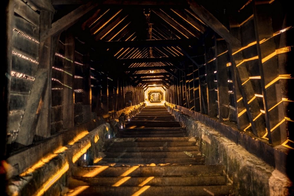
[[(177, 196), (205, 196), (205, 195), (230, 195), (231, 186), (86, 186), (86, 187), (69, 187), (76, 189), (79, 195), (177, 195)], [(82, 191), (81, 191), (82, 190)], [(75, 191), (73, 191), (74, 193)]]

